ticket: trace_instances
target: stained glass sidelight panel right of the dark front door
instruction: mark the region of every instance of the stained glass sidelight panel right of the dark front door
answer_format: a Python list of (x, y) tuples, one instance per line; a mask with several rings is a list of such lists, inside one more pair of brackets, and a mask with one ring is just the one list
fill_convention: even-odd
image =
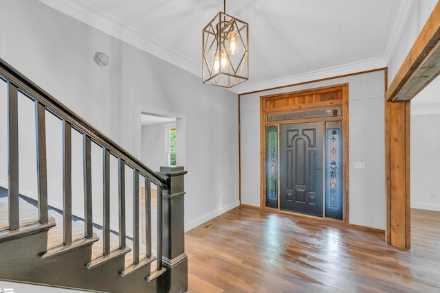
[(341, 122), (326, 123), (325, 216), (342, 220)]

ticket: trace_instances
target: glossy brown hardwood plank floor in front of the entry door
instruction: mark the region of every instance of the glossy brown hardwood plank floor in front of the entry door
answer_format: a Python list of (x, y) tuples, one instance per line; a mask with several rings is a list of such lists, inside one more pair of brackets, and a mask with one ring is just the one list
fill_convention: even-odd
[(412, 210), (410, 251), (377, 231), (245, 207), (185, 240), (192, 293), (440, 292), (440, 212)]

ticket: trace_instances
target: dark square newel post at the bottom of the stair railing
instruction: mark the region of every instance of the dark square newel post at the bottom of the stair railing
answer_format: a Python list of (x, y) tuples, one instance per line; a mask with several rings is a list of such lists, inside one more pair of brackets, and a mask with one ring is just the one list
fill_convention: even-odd
[(162, 197), (162, 262), (166, 268), (165, 292), (188, 291), (188, 257), (185, 253), (184, 176), (181, 166), (160, 167), (168, 190)]

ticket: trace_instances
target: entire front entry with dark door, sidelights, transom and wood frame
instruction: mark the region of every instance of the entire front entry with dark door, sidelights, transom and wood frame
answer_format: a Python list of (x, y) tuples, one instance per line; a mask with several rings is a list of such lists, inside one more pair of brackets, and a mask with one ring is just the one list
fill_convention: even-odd
[(348, 221), (348, 85), (261, 97), (261, 207)]

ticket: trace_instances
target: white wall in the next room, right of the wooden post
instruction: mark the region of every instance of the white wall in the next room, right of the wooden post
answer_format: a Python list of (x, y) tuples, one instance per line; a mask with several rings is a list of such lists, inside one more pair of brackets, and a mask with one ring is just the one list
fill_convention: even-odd
[(411, 115), (410, 186), (415, 209), (440, 211), (439, 126), (439, 113)]

